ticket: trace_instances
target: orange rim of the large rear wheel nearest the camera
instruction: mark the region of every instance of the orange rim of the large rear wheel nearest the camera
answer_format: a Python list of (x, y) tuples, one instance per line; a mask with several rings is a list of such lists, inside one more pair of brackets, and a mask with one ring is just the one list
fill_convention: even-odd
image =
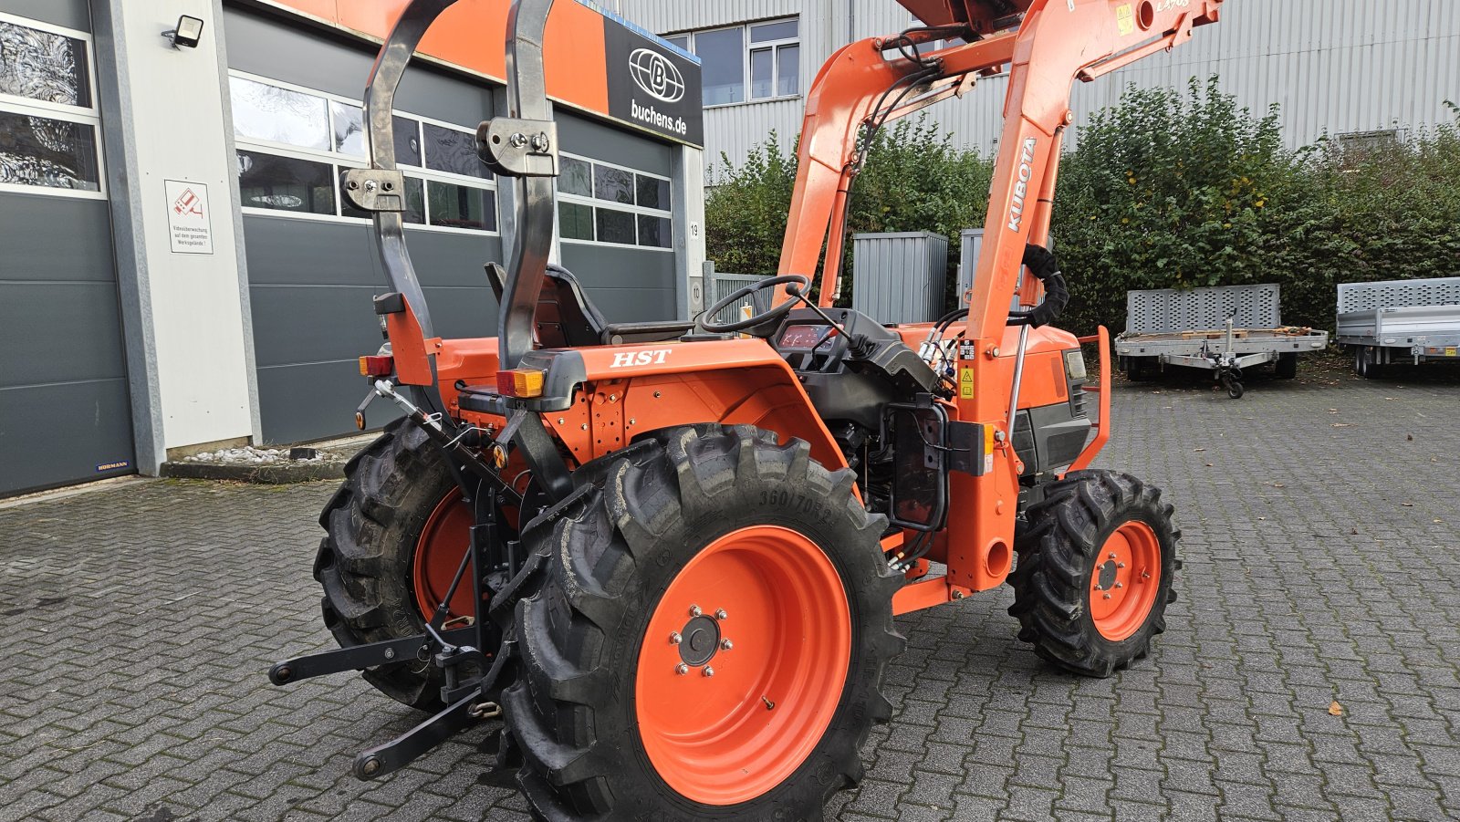
[(639, 650), (635, 712), (658, 775), (734, 804), (796, 771), (831, 724), (851, 663), (851, 607), (806, 536), (737, 529), (675, 577)]

